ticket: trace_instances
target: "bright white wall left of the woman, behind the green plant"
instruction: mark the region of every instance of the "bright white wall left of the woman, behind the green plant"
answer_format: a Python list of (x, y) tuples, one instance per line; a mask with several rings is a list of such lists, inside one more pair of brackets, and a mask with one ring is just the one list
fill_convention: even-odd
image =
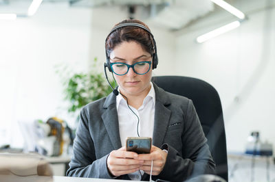
[(65, 112), (56, 65), (87, 68), (90, 31), (91, 10), (67, 3), (43, 3), (31, 18), (0, 21), (0, 144), (22, 145), (20, 120), (59, 116), (74, 123)]

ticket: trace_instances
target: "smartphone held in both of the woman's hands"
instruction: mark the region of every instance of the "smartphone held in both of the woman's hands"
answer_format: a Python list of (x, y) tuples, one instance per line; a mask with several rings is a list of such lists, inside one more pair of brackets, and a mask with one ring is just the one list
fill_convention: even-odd
[(151, 153), (152, 138), (150, 137), (127, 137), (126, 151), (141, 153)]

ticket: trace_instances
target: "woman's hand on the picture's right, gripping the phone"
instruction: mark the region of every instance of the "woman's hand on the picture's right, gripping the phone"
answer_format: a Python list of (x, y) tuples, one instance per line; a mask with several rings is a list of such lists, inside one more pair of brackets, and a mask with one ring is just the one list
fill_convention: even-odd
[(153, 160), (152, 175), (158, 175), (164, 168), (166, 157), (167, 153), (165, 151), (162, 151), (162, 149), (152, 145), (151, 153), (138, 155), (138, 159), (144, 161), (144, 164), (140, 167), (140, 170), (144, 170), (144, 172), (150, 174), (151, 163)]

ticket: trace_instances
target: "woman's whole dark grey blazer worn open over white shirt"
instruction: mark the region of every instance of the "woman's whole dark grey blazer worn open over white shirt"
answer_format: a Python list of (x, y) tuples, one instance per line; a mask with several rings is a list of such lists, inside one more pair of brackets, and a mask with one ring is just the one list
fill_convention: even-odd
[[(153, 145), (168, 149), (168, 155), (162, 172), (152, 179), (184, 181), (198, 174), (214, 174), (215, 164), (192, 101), (153, 85)], [(111, 93), (81, 110), (67, 176), (112, 178), (107, 157), (122, 146), (115, 103), (115, 95)], [(129, 177), (122, 175), (118, 179)], [(148, 174), (144, 173), (142, 180), (148, 180)]]

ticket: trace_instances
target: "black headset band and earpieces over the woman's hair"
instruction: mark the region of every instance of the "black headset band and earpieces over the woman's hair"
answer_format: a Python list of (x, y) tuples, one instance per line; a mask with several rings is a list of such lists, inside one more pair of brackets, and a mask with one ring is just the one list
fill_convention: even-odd
[(153, 40), (153, 49), (154, 49), (154, 53), (152, 55), (152, 68), (155, 69), (157, 68), (157, 63), (158, 63), (158, 59), (157, 59), (157, 46), (155, 44), (155, 39), (153, 34), (151, 33), (151, 31), (146, 28), (144, 25), (140, 24), (140, 23), (122, 23), (120, 25), (117, 25), (115, 27), (113, 27), (113, 29), (111, 29), (110, 33), (108, 34), (106, 40), (105, 40), (105, 53), (106, 53), (106, 66), (108, 67), (110, 72), (113, 72), (113, 70), (111, 70), (111, 65), (110, 65), (110, 60), (109, 60), (109, 56), (106, 50), (106, 43), (107, 40), (109, 38), (109, 36), (113, 33), (113, 31), (121, 28), (121, 27), (140, 27), (141, 29), (144, 29), (146, 32), (148, 32), (148, 34), (150, 34), (152, 40)]

